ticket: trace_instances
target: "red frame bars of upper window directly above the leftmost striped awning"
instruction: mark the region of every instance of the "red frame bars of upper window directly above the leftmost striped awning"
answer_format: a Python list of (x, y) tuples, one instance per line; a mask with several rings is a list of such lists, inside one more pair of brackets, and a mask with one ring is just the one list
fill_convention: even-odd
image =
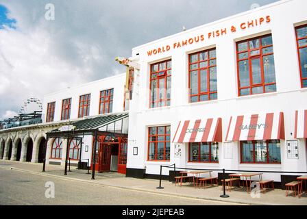
[[(210, 57), (210, 51), (215, 51), (215, 55), (214, 57)], [(208, 95), (208, 100), (206, 101), (210, 101), (212, 100), (211, 95), (212, 94), (217, 94), (217, 91), (211, 91), (210, 89), (210, 69), (217, 67), (217, 55), (216, 55), (216, 48), (213, 49), (207, 49), (204, 51), (199, 51), (197, 53), (192, 53), (188, 55), (188, 92), (189, 92), (189, 102), (190, 103), (197, 103), (197, 102), (201, 102), (200, 97), (202, 95)], [(206, 60), (200, 60), (199, 55), (201, 53), (207, 53), (207, 59)], [(197, 55), (197, 62), (191, 62), (191, 57), (193, 55)], [(211, 64), (212, 61), (215, 61), (215, 64)], [(206, 67), (201, 67), (200, 64), (201, 63), (205, 63), (207, 62), (208, 65)], [(192, 65), (197, 64), (197, 68), (193, 68), (191, 69)], [(198, 82), (198, 92), (197, 94), (191, 94), (191, 72), (196, 71), (197, 70), (197, 82)], [(206, 70), (207, 71), (207, 92), (201, 92), (201, 70)], [(217, 73), (216, 73), (217, 74)], [(191, 99), (193, 98), (193, 96), (197, 96), (197, 101), (191, 101)]]

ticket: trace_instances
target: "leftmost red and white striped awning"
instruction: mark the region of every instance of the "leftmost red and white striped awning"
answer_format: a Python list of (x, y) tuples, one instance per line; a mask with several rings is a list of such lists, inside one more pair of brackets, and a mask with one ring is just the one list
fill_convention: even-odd
[(221, 118), (180, 121), (173, 142), (222, 142)]

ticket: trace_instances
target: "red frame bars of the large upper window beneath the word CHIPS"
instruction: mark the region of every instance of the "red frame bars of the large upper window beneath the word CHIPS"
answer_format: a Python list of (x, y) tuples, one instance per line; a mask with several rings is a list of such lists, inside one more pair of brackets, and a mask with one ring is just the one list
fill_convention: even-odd
[[(237, 68), (237, 77), (238, 77), (238, 96), (248, 96), (248, 95), (255, 95), (252, 92), (253, 88), (256, 87), (260, 87), (262, 86), (263, 88), (263, 92), (262, 93), (258, 93), (258, 94), (265, 94), (268, 92), (265, 92), (265, 87), (266, 86), (271, 86), (271, 85), (275, 85), (276, 86), (276, 81), (272, 82), (272, 83), (265, 83), (265, 70), (264, 70), (264, 64), (263, 64), (263, 57), (265, 56), (269, 56), (269, 55), (273, 55), (274, 52), (271, 53), (262, 53), (262, 50), (268, 47), (272, 47), (273, 48), (273, 39), (272, 39), (272, 44), (266, 45), (266, 46), (262, 46), (262, 38), (266, 38), (268, 36), (271, 36), (271, 34), (267, 34), (267, 35), (263, 35), (263, 36), (258, 36), (258, 37), (254, 37), (254, 38), (249, 38), (247, 40), (241, 40), (239, 42), (236, 42), (236, 68)], [(256, 49), (250, 49), (249, 47), (249, 41), (251, 40), (259, 40), (259, 48)], [(238, 45), (243, 43), (243, 42), (247, 42), (247, 50), (245, 51), (238, 51)], [(253, 51), (257, 51), (259, 50), (260, 53), (258, 55), (251, 55), (251, 52)], [(248, 53), (248, 57), (247, 58), (241, 58), (239, 59), (239, 55), (241, 53)], [(261, 68), (261, 83), (257, 83), (257, 84), (253, 84), (253, 72), (252, 72), (252, 66), (251, 66), (251, 60), (256, 60), (256, 59), (260, 59), (260, 68)], [(240, 68), (239, 68), (239, 62), (246, 60), (249, 64), (249, 86), (245, 86), (245, 87), (241, 87), (240, 85)], [(275, 65), (275, 59), (274, 59), (274, 65)], [(275, 75), (276, 78), (276, 75)], [(248, 89), (249, 88), (249, 94), (245, 94), (245, 95), (241, 95), (240, 91), (244, 90), (244, 89)], [(275, 91), (273, 91), (275, 92)]]

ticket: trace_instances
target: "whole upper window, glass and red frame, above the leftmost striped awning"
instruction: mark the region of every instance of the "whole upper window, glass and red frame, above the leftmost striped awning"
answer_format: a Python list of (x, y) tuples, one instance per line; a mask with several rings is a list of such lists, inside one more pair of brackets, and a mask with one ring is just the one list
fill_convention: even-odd
[(210, 49), (189, 55), (188, 88), (190, 102), (217, 99), (217, 57)]

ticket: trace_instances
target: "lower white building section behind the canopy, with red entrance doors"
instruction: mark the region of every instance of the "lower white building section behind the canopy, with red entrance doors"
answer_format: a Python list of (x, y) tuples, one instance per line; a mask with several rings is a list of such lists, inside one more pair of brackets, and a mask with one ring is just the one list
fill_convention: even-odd
[[(47, 133), (47, 138), (51, 139), (48, 140), (47, 163), (64, 165), (66, 145), (69, 145), (67, 157), (71, 158), (72, 164), (80, 163), (83, 168), (92, 164), (95, 134), (89, 130), (94, 127), (110, 134), (123, 134), (126, 139), (128, 115), (124, 112), (124, 88), (125, 74), (121, 74), (47, 94), (44, 97), (42, 112), (45, 114), (42, 120), (47, 124), (64, 121), (71, 124), (64, 124), (60, 129)], [(69, 138), (64, 134), (67, 131), (71, 131)], [(127, 140), (118, 137), (106, 133), (98, 135), (96, 170), (125, 173)]]

